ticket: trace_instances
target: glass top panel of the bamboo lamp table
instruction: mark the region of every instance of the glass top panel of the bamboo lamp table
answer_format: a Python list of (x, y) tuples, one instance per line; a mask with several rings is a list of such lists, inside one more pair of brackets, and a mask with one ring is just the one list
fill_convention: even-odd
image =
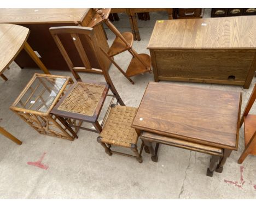
[(15, 107), (47, 112), (66, 81), (66, 78), (36, 76)]

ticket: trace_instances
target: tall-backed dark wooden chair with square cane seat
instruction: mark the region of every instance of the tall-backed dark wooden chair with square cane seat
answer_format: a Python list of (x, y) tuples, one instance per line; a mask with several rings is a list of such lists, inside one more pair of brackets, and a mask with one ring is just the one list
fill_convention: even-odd
[(100, 54), (103, 51), (102, 48), (97, 44), (94, 29), (88, 27), (71, 26), (51, 27), (49, 30), (50, 33), (53, 35), (53, 38), (56, 41), (56, 44), (59, 47), (63, 58), (66, 60), (73, 76), (75, 77), (75, 79), (77, 79), (77, 81), (79, 81), (74, 84), (67, 93), (65, 93), (62, 99), (52, 109), (51, 113), (55, 114), (60, 120), (63, 121), (63, 123), (67, 121), (68, 125), (71, 127), (80, 127), (80, 124), (78, 126), (75, 126), (73, 120), (80, 120), (91, 123), (92, 125), (94, 125), (96, 130), (84, 127), (80, 127), (80, 129), (99, 133), (101, 132), (101, 126), (98, 123), (97, 119), (100, 115), (103, 103), (108, 95), (109, 89), (113, 93), (113, 95), (111, 95), (112, 101), (110, 105), (113, 103), (114, 99), (117, 99), (117, 103), (120, 103), (120, 105), (124, 105), (124, 102), (123, 100), (121, 100), (121, 97), (115, 89), (113, 82), (108, 74), (108, 70), (105, 70), (105, 68), (103, 67), (103, 62), (101, 59), (98, 58), (98, 56), (95, 57), (100, 64), (99, 67), (102, 69), (102, 73), (104, 75), (104, 78), (106, 79), (106, 83), (81, 82), (82, 79), (78, 75), (77, 71), (74, 70), (78, 69), (79, 67), (75, 67), (73, 65), (71, 58), (69, 58), (69, 55), (59, 38), (59, 35), (70, 36), (70, 38), (74, 41), (74, 45), (77, 48), (80, 58), (83, 60), (85, 68), (88, 68), (91, 66), (91, 63), (89, 58), (87, 57), (85, 48), (82, 45), (81, 38), (84, 38), (84, 41), (87, 41), (88, 45), (91, 46), (90, 48), (86, 47), (86, 51), (90, 51), (91, 54)]

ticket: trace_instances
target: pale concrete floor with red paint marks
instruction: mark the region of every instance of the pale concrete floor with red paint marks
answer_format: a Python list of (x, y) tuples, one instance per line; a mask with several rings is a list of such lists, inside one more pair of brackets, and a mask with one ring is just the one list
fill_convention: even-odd
[[(208, 12), (208, 11), (207, 11)], [(207, 13), (209, 15), (209, 12)], [(125, 15), (114, 24), (123, 32), (129, 30)], [(134, 42), (137, 52), (149, 53), (147, 44), (155, 20), (167, 19), (165, 13), (150, 14), (150, 21), (138, 21), (141, 41)], [(109, 44), (114, 35), (106, 29)], [(126, 69), (130, 55), (120, 54), (116, 61)], [(243, 128), (238, 151), (233, 151), (222, 174), (206, 176), (210, 155), (160, 145), (159, 162), (154, 163), (143, 152), (143, 163), (120, 155), (108, 156), (96, 142), (97, 133), (79, 131), (79, 139), (70, 142), (34, 131), (9, 110), (9, 106), (38, 69), (20, 69), (15, 63), (5, 72), (7, 82), (0, 80), (0, 125), (23, 141), (21, 146), (0, 135), (0, 198), (2, 199), (252, 199), (256, 198), (256, 158), (248, 156), (243, 164), (238, 157), (244, 148)], [(68, 75), (68, 71), (50, 71)], [(137, 107), (153, 74), (133, 77), (135, 85), (112, 65), (110, 75), (128, 106)], [(83, 80), (103, 81), (103, 76), (80, 73)], [(181, 83), (203, 88), (243, 92), (242, 111), (252, 92), (232, 85)], [(171, 83), (171, 82), (170, 82)], [(256, 107), (253, 107), (256, 113)], [(38, 161), (45, 152), (43, 164), (48, 169), (27, 164)], [(242, 174), (242, 175), (241, 175)]]

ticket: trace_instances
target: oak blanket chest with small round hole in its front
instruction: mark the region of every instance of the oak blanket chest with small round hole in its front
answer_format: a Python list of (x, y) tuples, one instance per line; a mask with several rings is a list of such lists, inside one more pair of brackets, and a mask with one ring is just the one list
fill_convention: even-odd
[(256, 70), (256, 16), (156, 21), (147, 48), (155, 82), (249, 88)]

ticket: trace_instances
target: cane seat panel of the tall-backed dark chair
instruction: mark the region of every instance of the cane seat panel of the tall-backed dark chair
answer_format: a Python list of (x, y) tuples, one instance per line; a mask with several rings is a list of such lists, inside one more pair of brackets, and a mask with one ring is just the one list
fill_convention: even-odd
[(103, 84), (77, 82), (57, 109), (92, 116), (105, 88)]

